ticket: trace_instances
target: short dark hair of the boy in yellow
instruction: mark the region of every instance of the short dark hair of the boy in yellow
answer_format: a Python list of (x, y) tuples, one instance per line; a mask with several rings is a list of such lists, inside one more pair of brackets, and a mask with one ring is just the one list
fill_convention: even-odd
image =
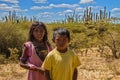
[(66, 35), (68, 37), (68, 39), (70, 40), (70, 32), (67, 29), (55, 28), (53, 31), (54, 31), (53, 32), (53, 39), (55, 39), (57, 34), (60, 34), (60, 35)]

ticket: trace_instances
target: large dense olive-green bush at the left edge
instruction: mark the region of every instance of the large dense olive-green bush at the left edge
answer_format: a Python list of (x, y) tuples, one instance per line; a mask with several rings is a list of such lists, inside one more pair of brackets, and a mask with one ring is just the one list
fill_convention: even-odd
[(16, 48), (21, 51), (23, 42), (26, 40), (25, 30), (17, 26), (16, 23), (0, 24), (0, 52), (6, 54), (6, 58), (10, 57), (8, 48)]

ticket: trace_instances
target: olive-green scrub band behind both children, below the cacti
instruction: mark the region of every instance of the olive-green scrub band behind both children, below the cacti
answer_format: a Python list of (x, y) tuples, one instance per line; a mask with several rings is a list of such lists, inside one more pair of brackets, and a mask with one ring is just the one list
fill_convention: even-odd
[[(31, 22), (21, 22), (21, 23), (0, 23), (0, 52), (5, 53), (8, 57), (10, 56), (11, 50), (14, 51), (16, 48), (18, 53), (21, 53), (21, 48), (23, 43), (26, 41), (28, 37), (28, 30)], [(112, 26), (112, 27), (111, 27)], [(84, 25), (82, 23), (52, 23), (47, 24), (48, 29), (48, 38), (51, 45), (54, 47), (54, 43), (52, 42), (52, 33), (53, 29), (57, 27), (67, 28), (71, 32), (71, 42), (70, 47), (75, 50), (79, 50), (81, 48), (91, 48), (96, 47), (100, 44), (105, 44), (102, 40), (107, 41), (107, 44), (111, 44), (108, 34), (106, 32), (113, 32), (118, 34), (120, 29), (118, 25), (99, 25), (99, 24), (90, 24)], [(117, 30), (117, 32), (116, 32)], [(105, 35), (106, 34), (106, 35)], [(98, 38), (99, 36), (99, 38)], [(115, 35), (113, 35), (115, 37)], [(102, 39), (101, 39), (102, 38)], [(115, 38), (119, 43), (119, 39), (117, 36)], [(18, 54), (17, 52), (15, 54)], [(15, 55), (14, 54), (14, 55)], [(15, 55), (17, 56), (17, 55)], [(15, 56), (11, 55), (12, 58)]]

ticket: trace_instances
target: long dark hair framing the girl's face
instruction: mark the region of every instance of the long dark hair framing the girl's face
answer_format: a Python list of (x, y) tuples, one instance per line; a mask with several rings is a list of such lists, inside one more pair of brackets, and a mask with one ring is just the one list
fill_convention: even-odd
[(36, 27), (42, 27), (45, 30), (45, 35), (43, 37), (43, 41), (48, 41), (48, 33), (47, 33), (46, 25), (43, 22), (38, 22), (38, 21), (35, 21), (35, 22), (32, 23), (32, 25), (30, 27), (30, 30), (29, 30), (28, 41), (32, 41), (33, 42), (35, 40), (35, 38), (33, 36), (33, 30)]

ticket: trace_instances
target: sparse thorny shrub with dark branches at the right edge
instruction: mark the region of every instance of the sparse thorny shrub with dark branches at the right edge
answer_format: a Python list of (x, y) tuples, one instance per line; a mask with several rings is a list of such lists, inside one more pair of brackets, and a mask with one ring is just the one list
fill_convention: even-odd
[(120, 37), (117, 31), (106, 31), (101, 35), (98, 35), (101, 47), (107, 46), (112, 51), (114, 58), (120, 58)]

